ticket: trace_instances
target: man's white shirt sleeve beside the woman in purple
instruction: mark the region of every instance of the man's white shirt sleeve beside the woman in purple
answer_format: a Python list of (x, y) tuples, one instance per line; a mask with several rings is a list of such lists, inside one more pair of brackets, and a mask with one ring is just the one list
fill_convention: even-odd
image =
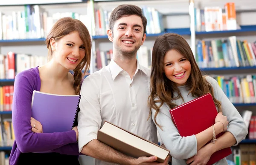
[[(92, 76), (95, 76), (95, 74)], [(79, 131), (79, 152), (82, 151), (84, 145), (93, 139), (97, 139), (97, 133), (102, 123), (99, 90), (92, 76), (85, 78), (81, 86), (80, 112), (78, 113), (77, 126)]]

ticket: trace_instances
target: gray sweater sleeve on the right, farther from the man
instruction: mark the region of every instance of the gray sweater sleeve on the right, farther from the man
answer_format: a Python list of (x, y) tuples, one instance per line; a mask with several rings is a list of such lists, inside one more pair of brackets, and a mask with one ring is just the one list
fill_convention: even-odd
[(233, 103), (231, 103), (227, 98), (221, 87), (219, 87), (218, 82), (211, 77), (207, 77), (207, 81), (212, 84), (215, 98), (218, 101), (221, 101), (222, 113), (227, 116), (227, 120), (229, 122), (227, 131), (233, 134), (236, 139), (235, 145), (238, 145), (238, 143), (241, 142), (248, 133), (244, 120)]

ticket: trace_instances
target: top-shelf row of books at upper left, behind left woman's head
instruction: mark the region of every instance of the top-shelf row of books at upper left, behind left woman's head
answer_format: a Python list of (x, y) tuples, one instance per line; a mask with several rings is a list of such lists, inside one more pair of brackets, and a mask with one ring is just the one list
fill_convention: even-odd
[(1, 39), (36, 39), (46, 38), (52, 25), (62, 17), (72, 17), (87, 23), (86, 14), (76, 12), (48, 12), (38, 5), (24, 5), (23, 11), (12, 11), (12, 15), (0, 11), (0, 40)]

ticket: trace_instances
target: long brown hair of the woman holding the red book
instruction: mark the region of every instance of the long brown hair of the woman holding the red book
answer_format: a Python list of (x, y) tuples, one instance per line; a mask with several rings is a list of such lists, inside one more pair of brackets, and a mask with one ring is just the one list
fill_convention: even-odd
[[(150, 107), (149, 117), (152, 115), (152, 109), (155, 109), (156, 113), (154, 115), (154, 121), (157, 126), (161, 128), (156, 121), (156, 117), (160, 111), (160, 107), (163, 106), (163, 103), (166, 103), (171, 109), (173, 109), (177, 107), (177, 105), (173, 103), (174, 100), (181, 98), (184, 102), (184, 99), (175, 83), (170, 81), (164, 73), (163, 60), (165, 54), (169, 50), (176, 50), (191, 64), (191, 73), (186, 81), (189, 94), (191, 93), (193, 97), (200, 97), (210, 93), (215, 106), (218, 108), (218, 111), (221, 112), (221, 102), (215, 99), (211, 84), (209, 84), (209, 82), (202, 76), (201, 70), (195, 62), (192, 50), (186, 42), (186, 39), (179, 34), (169, 33), (158, 36), (153, 46), (150, 85), (151, 94), (148, 98), (148, 105)], [(178, 93), (177, 97), (174, 97), (174, 92)], [(160, 103), (160, 106), (157, 106), (156, 103)]]

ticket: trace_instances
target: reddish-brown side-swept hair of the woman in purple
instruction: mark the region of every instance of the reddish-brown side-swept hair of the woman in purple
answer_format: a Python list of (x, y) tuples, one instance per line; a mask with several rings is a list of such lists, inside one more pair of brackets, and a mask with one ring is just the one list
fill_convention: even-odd
[[(90, 33), (87, 30), (86, 26), (83, 22), (80, 20), (73, 19), (71, 17), (64, 17), (59, 19), (55, 24), (52, 26), (51, 31), (49, 32), (47, 38), (46, 38), (46, 45), (48, 49), (48, 61), (52, 59), (53, 51), (51, 49), (50, 40), (53, 38), (55, 41), (58, 41), (63, 36), (66, 36), (73, 32), (78, 32), (81, 40), (84, 43), (85, 46), (85, 56), (84, 59), (76, 66), (74, 71), (74, 89), (76, 91), (76, 94), (80, 93), (81, 88), (81, 80), (85, 73), (90, 68), (90, 58), (91, 58), (91, 47), (92, 42), (90, 38)], [(84, 74), (82, 73), (82, 70), (84, 70)]]

